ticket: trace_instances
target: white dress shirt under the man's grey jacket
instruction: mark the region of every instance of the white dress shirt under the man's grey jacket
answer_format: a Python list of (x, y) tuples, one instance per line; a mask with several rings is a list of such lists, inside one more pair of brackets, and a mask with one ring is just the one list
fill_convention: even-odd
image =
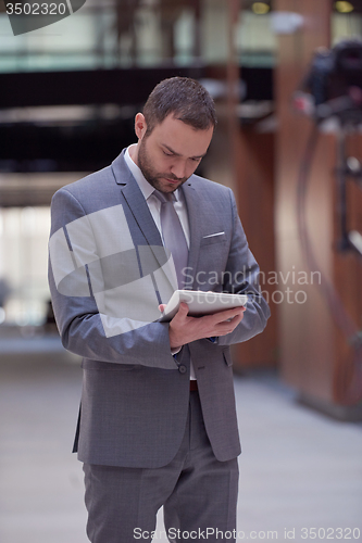
[[(161, 228), (161, 202), (153, 194), (154, 187), (152, 187), (152, 185), (150, 185), (148, 182), (148, 180), (143, 176), (142, 172), (137, 166), (137, 164), (135, 164), (135, 162), (132, 160), (130, 154), (129, 154), (129, 149), (133, 147), (136, 147), (136, 143), (133, 143), (132, 146), (129, 146), (126, 149), (124, 157), (125, 157), (125, 161), (126, 161), (128, 168), (130, 169), (132, 175), (136, 179), (137, 185), (140, 188), (140, 190), (146, 199), (146, 203), (151, 212), (151, 215), (153, 217), (155, 226), (158, 227), (158, 229), (161, 233), (162, 241), (163, 241), (162, 228)], [(175, 211), (178, 215), (178, 218), (180, 220), (180, 224), (182, 224), (182, 227), (183, 227), (183, 230), (185, 233), (187, 247), (190, 248), (190, 228), (189, 228), (189, 224), (188, 224), (188, 216), (187, 216), (187, 207), (186, 207), (185, 198), (184, 198), (183, 192), (178, 189), (175, 190), (174, 194), (176, 197), (176, 200), (173, 202), (173, 204), (174, 204)], [(178, 351), (179, 351), (179, 349), (173, 349), (172, 354), (177, 354)], [(196, 379), (192, 362), (191, 362), (191, 368), (190, 368), (190, 379)]]

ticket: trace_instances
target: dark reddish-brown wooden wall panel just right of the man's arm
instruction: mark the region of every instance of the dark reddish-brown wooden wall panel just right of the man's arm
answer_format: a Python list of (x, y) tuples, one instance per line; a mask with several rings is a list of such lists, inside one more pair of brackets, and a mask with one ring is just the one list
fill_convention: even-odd
[[(249, 247), (260, 269), (260, 282), (272, 316), (262, 336), (236, 348), (236, 366), (275, 366), (277, 361), (277, 304), (270, 285), (275, 270), (274, 244), (274, 134), (259, 134), (253, 126), (239, 131), (237, 198)], [(277, 299), (276, 299), (277, 300)]]

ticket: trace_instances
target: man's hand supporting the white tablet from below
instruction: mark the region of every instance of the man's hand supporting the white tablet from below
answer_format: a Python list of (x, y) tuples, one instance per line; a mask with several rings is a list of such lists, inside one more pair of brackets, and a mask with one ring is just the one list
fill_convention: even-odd
[[(160, 311), (165, 308), (161, 304)], [(168, 334), (171, 349), (177, 349), (186, 343), (203, 338), (226, 336), (235, 330), (244, 317), (246, 307), (221, 311), (204, 317), (189, 317), (188, 305), (182, 303), (178, 312), (170, 323)]]

